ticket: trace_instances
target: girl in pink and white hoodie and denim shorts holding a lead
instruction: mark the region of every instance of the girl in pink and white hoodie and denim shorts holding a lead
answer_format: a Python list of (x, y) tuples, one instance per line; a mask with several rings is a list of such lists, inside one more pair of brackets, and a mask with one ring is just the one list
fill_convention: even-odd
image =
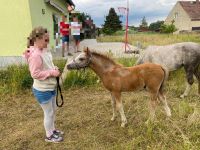
[(47, 50), (49, 33), (43, 27), (36, 27), (28, 37), (27, 59), (31, 77), (33, 78), (33, 94), (44, 112), (44, 128), (46, 142), (61, 142), (63, 131), (55, 128), (56, 111), (56, 77), (60, 76), (58, 67), (53, 64), (52, 55)]

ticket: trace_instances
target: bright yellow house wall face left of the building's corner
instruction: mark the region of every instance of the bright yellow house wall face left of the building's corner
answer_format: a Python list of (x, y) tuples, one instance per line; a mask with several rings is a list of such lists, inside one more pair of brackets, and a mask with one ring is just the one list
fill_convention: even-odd
[(0, 56), (20, 56), (32, 28), (28, 0), (1, 0)]

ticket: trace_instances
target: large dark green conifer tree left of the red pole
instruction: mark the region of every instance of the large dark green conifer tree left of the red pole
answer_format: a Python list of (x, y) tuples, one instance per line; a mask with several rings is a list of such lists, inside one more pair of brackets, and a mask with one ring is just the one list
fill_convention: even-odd
[(118, 30), (122, 29), (121, 21), (119, 20), (119, 16), (115, 12), (114, 8), (110, 8), (108, 15), (106, 16), (106, 20), (103, 25), (103, 33), (111, 35)]

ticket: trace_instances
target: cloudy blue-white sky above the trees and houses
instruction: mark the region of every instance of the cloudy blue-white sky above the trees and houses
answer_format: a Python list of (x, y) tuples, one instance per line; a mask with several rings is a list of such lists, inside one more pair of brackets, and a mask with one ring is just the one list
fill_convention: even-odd
[[(104, 24), (105, 16), (111, 7), (121, 15), (118, 7), (127, 6), (127, 0), (73, 0), (73, 2), (76, 10), (89, 14), (98, 27)], [(177, 0), (129, 0), (129, 25), (138, 26), (144, 16), (148, 24), (165, 20), (176, 2)], [(121, 17), (120, 20), (125, 24), (125, 17)]]

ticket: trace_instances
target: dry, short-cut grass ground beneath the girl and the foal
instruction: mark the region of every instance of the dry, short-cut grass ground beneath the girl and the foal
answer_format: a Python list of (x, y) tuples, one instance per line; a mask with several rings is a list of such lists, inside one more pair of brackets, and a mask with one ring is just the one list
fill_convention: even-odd
[(194, 86), (185, 100), (178, 97), (182, 87), (171, 84), (167, 98), (172, 117), (166, 118), (158, 103), (157, 119), (146, 125), (148, 93), (122, 95), (128, 125), (120, 127), (120, 117), (112, 122), (111, 97), (102, 86), (73, 88), (63, 92), (64, 106), (58, 108), (56, 125), (65, 132), (59, 144), (46, 143), (43, 112), (31, 91), (4, 95), (0, 99), (0, 149), (2, 150), (107, 150), (107, 149), (198, 149), (199, 123), (188, 126), (192, 104), (200, 104)]

